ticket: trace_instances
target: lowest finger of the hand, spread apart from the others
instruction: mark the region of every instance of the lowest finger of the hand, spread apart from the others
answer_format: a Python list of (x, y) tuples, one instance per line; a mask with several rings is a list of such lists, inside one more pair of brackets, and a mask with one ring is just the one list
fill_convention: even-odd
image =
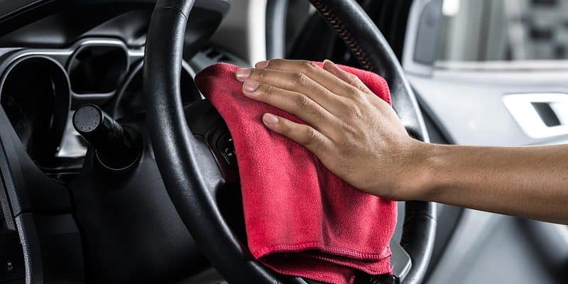
[(327, 136), (311, 126), (297, 124), (274, 114), (264, 114), (262, 121), (268, 129), (299, 143), (318, 157), (322, 157), (324, 151), (332, 146), (332, 141)]

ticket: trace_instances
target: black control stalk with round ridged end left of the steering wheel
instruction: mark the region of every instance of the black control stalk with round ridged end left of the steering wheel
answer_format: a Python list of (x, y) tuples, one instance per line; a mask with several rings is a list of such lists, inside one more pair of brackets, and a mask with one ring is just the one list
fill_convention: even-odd
[(138, 158), (136, 133), (124, 127), (95, 104), (84, 104), (73, 114), (73, 127), (107, 168), (124, 168)]

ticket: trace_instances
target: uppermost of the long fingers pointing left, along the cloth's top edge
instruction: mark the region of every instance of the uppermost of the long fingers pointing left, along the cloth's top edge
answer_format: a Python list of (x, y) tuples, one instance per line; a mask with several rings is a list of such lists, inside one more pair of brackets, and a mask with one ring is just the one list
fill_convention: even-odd
[(349, 82), (337, 80), (337, 77), (329, 72), (329, 70), (325, 70), (324, 68), (315, 65), (315, 63), (311, 61), (273, 59), (270, 61), (258, 62), (256, 64), (256, 68), (298, 72), (310, 77), (310, 79), (340, 96), (350, 97), (354, 92), (353, 86), (351, 86)]

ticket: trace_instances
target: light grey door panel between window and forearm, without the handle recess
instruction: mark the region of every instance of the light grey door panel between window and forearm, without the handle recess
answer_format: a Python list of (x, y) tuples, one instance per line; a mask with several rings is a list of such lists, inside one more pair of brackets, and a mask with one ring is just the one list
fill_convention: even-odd
[[(432, 77), (408, 75), (417, 97), (455, 143), (478, 146), (526, 146), (565, 141), (568, 135), (528, 136), (503, 103), (520, 93), (567, 93), (559, 80), (566, 72), (456, 72), (436, 70)], [(565, 78), (565, 77), (564, 77)]]

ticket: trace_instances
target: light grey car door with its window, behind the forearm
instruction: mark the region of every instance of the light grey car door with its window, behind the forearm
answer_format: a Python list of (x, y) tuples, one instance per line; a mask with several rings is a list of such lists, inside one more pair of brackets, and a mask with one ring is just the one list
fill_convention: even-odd
[[(442, 129), (435, 141), (568, 141), (568, 1), (422, 2), (403, 56), (432, 129)], [(439, 213), (427, 283), (568, 283), (566, 226), (445, 205)]]

